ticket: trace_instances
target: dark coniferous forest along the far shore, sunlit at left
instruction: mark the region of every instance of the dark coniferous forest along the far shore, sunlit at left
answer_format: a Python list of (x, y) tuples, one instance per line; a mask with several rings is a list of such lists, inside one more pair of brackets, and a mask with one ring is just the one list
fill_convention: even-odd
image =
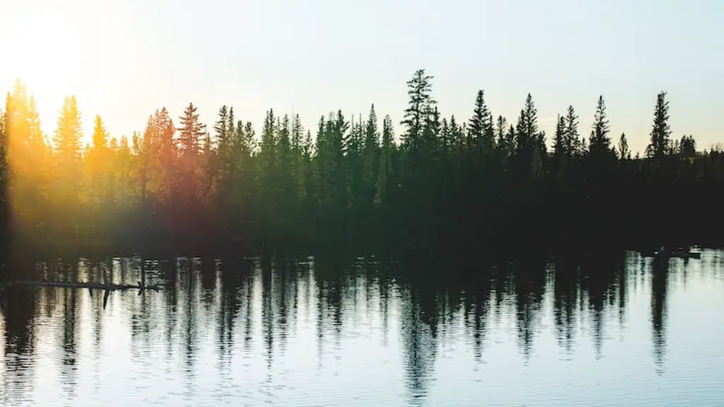
[(634, 155), (610, 133), (603, 97), (593, 123), (570, 106), (545, 134), (530, 94), (518, 117), (494, 115), (484, 91), (471, 117), (445, 117), (433, 79), (414, 72), (396, 121), (372, 105), (304, 128), (269, 109), (258, 127), (232, 106), (207, 119), (188, 104), (119, 138), (96, 117), (87, 145), (75, 97), (47, 135), (18, 81), (0, 115), (5, 250), (492, 256), (716, 243), (723, 151), (672, 134), (665, 92)]

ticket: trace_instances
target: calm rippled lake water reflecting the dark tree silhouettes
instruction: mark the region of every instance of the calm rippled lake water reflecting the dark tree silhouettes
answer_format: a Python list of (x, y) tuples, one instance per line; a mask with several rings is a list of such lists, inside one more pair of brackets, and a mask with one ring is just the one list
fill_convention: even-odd
[[(168, 288), (110, 293), (105, 307), (88, 290), (5, 290), (0, 404), (724, 403), (721, 251), (474, 280), (403, 278), (414, 270), (361, 261), (173, 263), (148, 277)], [(138, 259), (67, 273), (100, 278), (101, 267), (138, 281)]]

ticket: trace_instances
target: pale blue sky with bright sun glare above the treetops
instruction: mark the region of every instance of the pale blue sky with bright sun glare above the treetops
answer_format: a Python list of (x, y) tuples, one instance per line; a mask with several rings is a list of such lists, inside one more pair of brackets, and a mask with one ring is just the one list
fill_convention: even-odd
[(49, 135), (71, 94), (86, 137), (96, 114), (131, 135), (190, 102), (257, 129), (269, 108), (315, 129), (374, 103), (400, 133), (423, 68), (443, 116), (468, 119), (483, 89), (515, 121), (531, 93), (549, 139), (568, 105), (588, 135), (602, 95), (635, 151), (667, 91), (673, 136), (706, 148), (724, 141), (723, 20), (721, 0), (0, 0), (0, 91), (20, 77)]

